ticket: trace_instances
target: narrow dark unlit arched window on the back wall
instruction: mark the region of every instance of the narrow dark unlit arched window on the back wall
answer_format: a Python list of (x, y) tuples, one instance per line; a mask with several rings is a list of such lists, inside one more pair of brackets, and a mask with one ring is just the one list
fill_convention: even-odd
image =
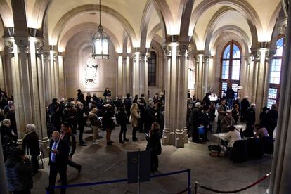
[(157, 67), (157, 54), (153, 51), (150, 52), (148, 58), (148, 86), (156, 86), (156, 67)]

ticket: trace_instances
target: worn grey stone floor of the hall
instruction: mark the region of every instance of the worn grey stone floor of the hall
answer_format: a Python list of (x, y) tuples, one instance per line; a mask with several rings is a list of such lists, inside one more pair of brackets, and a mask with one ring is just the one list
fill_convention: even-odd
[[(131, 126), (127, 126), (127, 137), (131, 137)], [(77, 146), (74, 161), (83, 165), (80, 175), (72, 167), (67, 169), (68, 183), (89, 183), (94, 181), (109, 181), (127, 178), (127, 152), (138, 149), (145, 150), (145, 135), (138, 133), (138, 142), (129, 141), (124, 145), (118, 143), (119, 127), (112, 131), (114, 145), (107, 146), (105, 139), (99, 145), (92, 145), (91, 130), (85, 129), (85, 140), (88, 146)], [(105, 136), (105, 131), (100, 132)], [(271, 157), (264, 156), (261, 160), (249, 160), (240, 164), (233, 164), (224, 157), (211, 157), (207, 145), (216, 144), (216, 138), (209, 134), (207, 144), (188, 143), (185, 148), (162, 146), (162, 155), (159, 157), (159, 172), (172, 172), (181, 169), (191, 169), (192, 182), (198, 181), (203, 186), (218, 190), (236, 190), (250, 185), (257, 179), (270, 172)], [(45, 193), (44, 187), (48, 184), (48, 166), (34, 176), (32, 193)], [(266, 193), (269, 178), (241, 193)], [(177, 193), (187, 187), (187, 175), (177, 174), (152, 179), (141, 183), (141, 193)], [(58, 193), (58, 191), (56, 192)], [(88, 186), (83, 188), (68, 188), (67, 193), (138, 193), (138, 184), (113, 183), (103, 186)], [(193, 191), (194, 193), (194, 191)], [(212, 193), (198, 188), (198, 193)]]

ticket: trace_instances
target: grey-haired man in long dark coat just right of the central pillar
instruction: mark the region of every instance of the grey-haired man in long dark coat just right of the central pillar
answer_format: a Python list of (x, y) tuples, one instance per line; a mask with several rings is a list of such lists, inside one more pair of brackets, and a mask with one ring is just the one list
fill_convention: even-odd
[(198, 127), (202, 124), (201, 103), (195, 103), (195, 107), (191, 110), (189, 117), (190, 130), (192, 131), (192, 141), (201, 143), (199, 139)]

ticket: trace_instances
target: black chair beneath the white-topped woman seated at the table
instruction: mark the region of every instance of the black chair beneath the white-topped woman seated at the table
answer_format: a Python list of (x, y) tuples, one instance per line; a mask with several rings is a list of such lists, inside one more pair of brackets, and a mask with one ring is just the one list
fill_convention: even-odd
[(233, 149), (231, 150), (231, 159), (233, 162), (245, 162), (249, 159), (249, 155), (247, 154), (247, 141), (235, 141)]

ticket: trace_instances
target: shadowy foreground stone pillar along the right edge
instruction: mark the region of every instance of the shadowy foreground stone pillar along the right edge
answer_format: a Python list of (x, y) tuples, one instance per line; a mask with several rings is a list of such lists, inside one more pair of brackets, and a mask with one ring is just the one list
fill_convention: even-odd
[[(291, 15), (291, 8), (288, 10)], [(291, 18), (288, 17), (285, 55), (281, 68), (280, 107), (273, 155), (269, 193), (290, 193), (291, 190)]]

